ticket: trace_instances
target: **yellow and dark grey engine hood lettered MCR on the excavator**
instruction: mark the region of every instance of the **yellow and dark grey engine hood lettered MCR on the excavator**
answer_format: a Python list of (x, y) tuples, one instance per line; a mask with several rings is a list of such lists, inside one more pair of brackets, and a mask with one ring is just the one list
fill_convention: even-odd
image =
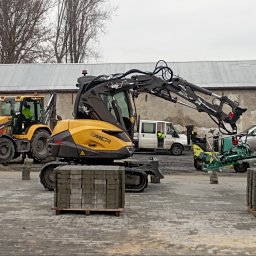
[(49, 140), (49, 153), (70, 159), (123, 159), (133, 154), (127, 134), (98, 120), (59, 121)]

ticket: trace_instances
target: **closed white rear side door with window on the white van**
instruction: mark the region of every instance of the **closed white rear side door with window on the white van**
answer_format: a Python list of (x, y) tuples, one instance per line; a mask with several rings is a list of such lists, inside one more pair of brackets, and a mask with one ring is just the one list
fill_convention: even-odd
[(157, 148), (156, 122), (140, 121), (139, 148)]

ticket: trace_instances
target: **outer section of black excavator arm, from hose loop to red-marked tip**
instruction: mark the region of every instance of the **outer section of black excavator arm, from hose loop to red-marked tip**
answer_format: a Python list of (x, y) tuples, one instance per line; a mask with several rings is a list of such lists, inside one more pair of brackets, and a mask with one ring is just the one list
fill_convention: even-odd
[[(159, 82), (154, 81), (152, 84), (157, 84), (156, 87), (153, 86), (153, 88), (150, 88), (150, 86), (147, 85), (142, 87), (142, 91), (173, 103), (179, 103), (196, 109), (198, 112), (207, 113), (218, 125), (220, 130), (222, 130), (222, 133), (237, 133), (236, 122), (246, 111), (246, 109), (240, 108), (237, 102), (232, 101), (227, 96), (214, 94), (213, 92), (189, 83), (180, 77), (172, 78), (167, 82), (162, 78), (158, 79), (160, 80)], [(140, 91), (140, 89), (138, 91)], [(173, 95), (177, 95), (185, 100), (185, 102)], [(202, 95), (206, 95), (208, 98), (212, 97), (212, 102), (209, 100), (207, 101)], [(227, 125), (230, 127), (227, 127)]]

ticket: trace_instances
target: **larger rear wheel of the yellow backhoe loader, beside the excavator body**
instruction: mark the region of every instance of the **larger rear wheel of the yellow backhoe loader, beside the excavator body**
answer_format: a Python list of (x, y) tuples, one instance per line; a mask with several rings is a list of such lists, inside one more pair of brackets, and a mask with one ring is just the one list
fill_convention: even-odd
[(29, 156), (38, 162), (46, 161), (48, 156), (47, 140), (50, 139), (50, 137), (50, 133), (46, 130), (36, 131), (31, 140), (31, 151)]

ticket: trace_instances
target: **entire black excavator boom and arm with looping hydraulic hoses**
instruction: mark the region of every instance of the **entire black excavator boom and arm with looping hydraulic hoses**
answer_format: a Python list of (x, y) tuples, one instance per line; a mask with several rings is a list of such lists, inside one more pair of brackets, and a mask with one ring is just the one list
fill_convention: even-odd
[[(81, 82), (82, 81), (83, 80), (81, 80)], [(227, 134), (237, 133), (236, 122), (246, 111), (246, 109), (240, 108), (237, 102), (230, 100), (226, 96), (219, 96), (205, 88), (187, 82), (180, 77), (173, 77), (172, 69), (162, 60), (156, 63), (153, 72), (131, 69), (121, 74), (117, 73), (110, 76), (101, 75), (94, 78), (89, 82), (89, 85), (87, 84), (85, 86), (88, 92), (91, 88), (95, 88), (95, 91), (98, 90), (101, 92), (105, 90), (105, 93), (110, 94), (132, 90), (133, 95), (139, 95), (144, 92), (173, 103), (185, 105), (196, 109), (198, 112), (207, 113), (219, 126), (219, 129), (223, 129)], [(190, 104), (178, 100), (178, 98), (173, 97), (171, 93), (178, 95)], [(197, 93), (213, 96), (214, 100), (210, 103), (202, 96), (197, 95)], [(217, 101), (218, 104), (216, 104)], [(223, 111), (224, 105), (228, 105), (231, 108), (230, 113)], [(215, 118), (217, 120), (215, 120)], [(231, 129), (228, 129), (224, 123), (229, 124)]]

